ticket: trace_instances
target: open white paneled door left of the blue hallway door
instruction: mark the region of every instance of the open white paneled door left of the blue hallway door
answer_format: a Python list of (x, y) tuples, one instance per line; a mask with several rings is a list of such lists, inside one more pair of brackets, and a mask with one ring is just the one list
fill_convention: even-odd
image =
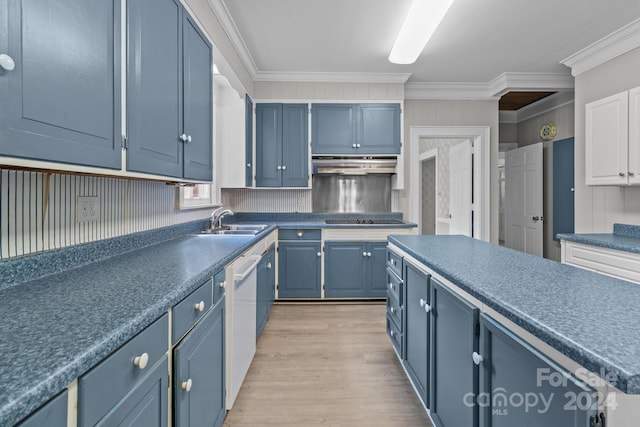
[(507, 151), (505, 245), (542, 256), (542, 143)]

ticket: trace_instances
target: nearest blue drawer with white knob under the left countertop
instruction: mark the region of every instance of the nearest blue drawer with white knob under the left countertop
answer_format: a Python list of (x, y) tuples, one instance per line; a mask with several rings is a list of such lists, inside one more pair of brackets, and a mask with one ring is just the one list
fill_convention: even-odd
[[(165, 314), (78, 380), (78, 426), (93, 426), (167, 352), (169, 316)], [(140, 359), (147, 363), (140, 367)], [(139, 365), (135, 363), (138, 362)]]

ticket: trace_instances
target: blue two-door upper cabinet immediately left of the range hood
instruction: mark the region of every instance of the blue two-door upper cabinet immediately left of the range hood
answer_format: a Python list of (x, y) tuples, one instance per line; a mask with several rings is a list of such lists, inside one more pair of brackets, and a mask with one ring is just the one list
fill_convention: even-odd
[(256, 187), (307, 187), (307, 104), (256, 105)]

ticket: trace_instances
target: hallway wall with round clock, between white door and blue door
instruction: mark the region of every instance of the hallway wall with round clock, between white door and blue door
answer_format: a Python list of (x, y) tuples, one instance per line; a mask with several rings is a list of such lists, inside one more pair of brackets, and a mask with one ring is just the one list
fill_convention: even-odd
[[(574, 103), (571, 102), (519, 122), (516, 131), (518, 146), (524, 147), (540, 142), (540, 128), (547, 123), (554, 123), (558, 128), (554, 141), (574, 136)], [(544, 164), (543, 254), (545, 258), (560, 261), (560, 242), (553, 240), (553, 141), (543, 143), (542, 156)]]

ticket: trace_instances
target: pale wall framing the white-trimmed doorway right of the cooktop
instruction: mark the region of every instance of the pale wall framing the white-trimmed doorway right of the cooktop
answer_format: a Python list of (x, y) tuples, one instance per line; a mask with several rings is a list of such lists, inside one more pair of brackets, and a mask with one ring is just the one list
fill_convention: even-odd
[(489, 126), (491, 137), (491, 241), (498, 243), (498, 101), (423, 101), (404, 103), (405, 190), (400, 191), (399, 209), (409, 213), (407, 195), (410, 192), (410, 167), (417, 159), (410, 159), (411, 126)]

